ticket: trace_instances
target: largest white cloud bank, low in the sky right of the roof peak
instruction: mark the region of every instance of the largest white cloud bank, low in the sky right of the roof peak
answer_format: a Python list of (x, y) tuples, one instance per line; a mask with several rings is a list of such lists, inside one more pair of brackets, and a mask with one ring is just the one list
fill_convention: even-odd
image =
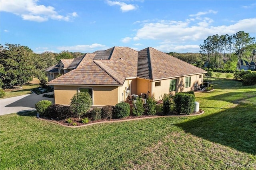
[(214, 34), (234, 34), (240, 30), (255, 33), (256, 18), (240, 20), (229, 26), (211, 26), (212, 22), (211, 19), (200, 21), (197, 25), (187, 20), (150, 22), (136, 31), (133, 40), (171, 40), (177, 43), (204, 40)]

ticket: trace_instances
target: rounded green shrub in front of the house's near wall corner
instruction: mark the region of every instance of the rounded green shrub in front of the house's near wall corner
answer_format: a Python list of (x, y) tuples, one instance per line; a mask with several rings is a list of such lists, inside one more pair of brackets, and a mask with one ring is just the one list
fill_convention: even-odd
[(114, 107), (113, 118), (120, 119), (130, 115), (130, 105), (125, 102), (117, 103)]

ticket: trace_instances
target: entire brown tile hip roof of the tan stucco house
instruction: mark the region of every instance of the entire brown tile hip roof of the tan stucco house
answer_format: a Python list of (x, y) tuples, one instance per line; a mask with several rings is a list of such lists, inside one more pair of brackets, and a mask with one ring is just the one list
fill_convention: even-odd
[(122, 85), (125, 79), (133, 77), (154, 81), (206, 73), (203, 69), (152, 47), (140, 51), (129, 47), (112, 47), (86, 53), (72, 60), (68, 68), (73, 70), (48, 84)]

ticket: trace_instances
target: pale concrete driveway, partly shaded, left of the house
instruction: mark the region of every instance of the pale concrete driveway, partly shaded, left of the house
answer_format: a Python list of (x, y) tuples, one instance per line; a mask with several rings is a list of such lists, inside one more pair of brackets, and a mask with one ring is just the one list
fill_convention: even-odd
[[(44, 93), (52, 94), (53, 92)], [(0, 115), (7, 115), (10, 113), (18, 113), (22, 111), (36, 110), (35, 104), (41, 100), (49, 100), (54, 104), (54, 99), (43, 97), (44, 94), (37, 95), (35, 93), (29, 95), (22, 95), (0, 99)]]

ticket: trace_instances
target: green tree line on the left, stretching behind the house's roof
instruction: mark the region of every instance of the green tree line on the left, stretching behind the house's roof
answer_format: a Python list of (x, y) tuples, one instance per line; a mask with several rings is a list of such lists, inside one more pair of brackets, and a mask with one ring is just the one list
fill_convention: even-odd
[(44, 69), (58, 63), (60, 59), (72, 59), (82, 55), (80, 52), (46, 51), (34, 53), (29, 47), (20, 44), (0, 44), (0, 88), (9, 85), (24, 85), (33, 77), (46, 82)]

